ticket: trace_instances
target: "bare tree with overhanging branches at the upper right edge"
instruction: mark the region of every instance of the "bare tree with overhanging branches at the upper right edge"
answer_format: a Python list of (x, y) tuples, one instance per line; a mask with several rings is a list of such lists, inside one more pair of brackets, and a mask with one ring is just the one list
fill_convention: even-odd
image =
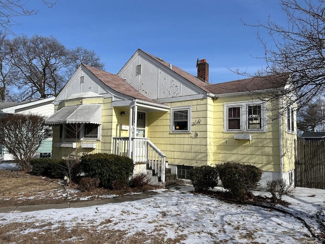
[[(268, 32), (273, 46), (257, 34), (265, 49), (265, 56), (261, 58), (266, 62), (259, 73), (289, 74), (291, 86), (285, 91), (290, 97), (287, 106), (298, 103), (300, 108), (325, 92), (325, 1), (281, 0), (280, 4), (287, 15), (286, 26), (278, 25), (271, 17), (265, 24), (244, 24)], [(276, 96), (283, 96), (283, 93)]]

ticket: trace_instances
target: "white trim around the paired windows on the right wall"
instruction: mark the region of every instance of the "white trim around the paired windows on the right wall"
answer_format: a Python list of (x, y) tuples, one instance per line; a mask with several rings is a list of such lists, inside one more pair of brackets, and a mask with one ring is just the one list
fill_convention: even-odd
[[(262, 129), (248, 129), (248, 106), (262, 105)], [(228, 108), (240, 107), (240, 129), (228, 129)], [(263, 101), (256, 102), (240, 102), (240, 103), (225, 103), (223, 104), (223, 131), (228, 133), (249, 132), (261, 133), (266, 132), (266, 103)]]

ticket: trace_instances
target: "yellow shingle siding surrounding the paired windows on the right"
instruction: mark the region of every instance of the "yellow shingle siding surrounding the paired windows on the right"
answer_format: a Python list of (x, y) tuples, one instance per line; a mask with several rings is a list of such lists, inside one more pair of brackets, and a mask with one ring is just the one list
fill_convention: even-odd
[[(258, 101), (257, 99), (255, 101)], [(224, 104), (251, 103), (252, 97), (218, 98), (214, 101), (214, 146), (215, 164), (227, 161), (238, 161), (255, 165), (263, 171), (280, 171), (279, 124), (272, 118), (277, 109), (270, 110), (267, 103), (267, 129), (263, 131), (225, 132)], [(274, 104), (273, 104), (274, 106)], [(247, 118), (242, 118), (245, 124)], [(265, 121), (263, 122), (265, 124)], [(235, 140), (235, 134), (251, 134), (251, 140)]]

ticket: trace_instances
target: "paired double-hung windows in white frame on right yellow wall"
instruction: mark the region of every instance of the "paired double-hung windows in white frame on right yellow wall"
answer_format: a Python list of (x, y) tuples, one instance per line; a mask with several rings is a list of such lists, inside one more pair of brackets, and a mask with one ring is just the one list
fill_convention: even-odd
[(224, 104), (224, 131), (265, 132), (265, 106), (263, 102)]

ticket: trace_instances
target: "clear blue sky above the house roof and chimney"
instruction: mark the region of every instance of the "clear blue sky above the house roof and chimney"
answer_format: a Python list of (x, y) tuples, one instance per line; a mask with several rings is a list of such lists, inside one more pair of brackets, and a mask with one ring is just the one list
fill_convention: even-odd
[(286, 19), (278, 0), (57, 0), (51, 9), (30, 0), (26, 7), (39, 13), (16, 18), (15, 34), (52, 35), (67, 48), (94, 50), (110, 73), (140, 48), (193, 75), (197, 58), (207, 59), (212, 83), (243, 78), (227, 67), (253, 74), (265, 66), (254, 58), (264, 55), (257, 28), (241, 20)]

